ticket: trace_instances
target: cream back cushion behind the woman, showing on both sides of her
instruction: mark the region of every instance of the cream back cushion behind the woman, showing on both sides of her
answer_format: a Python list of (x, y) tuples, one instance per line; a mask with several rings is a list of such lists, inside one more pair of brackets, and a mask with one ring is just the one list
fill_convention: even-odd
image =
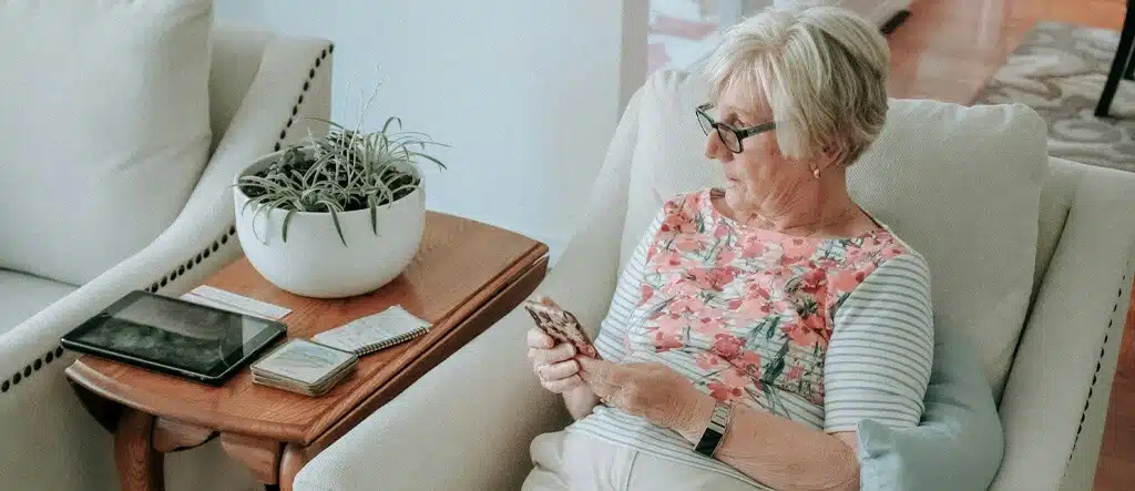
[[(663, 200), (724, 179), (693, 116), (706, 84), (663, 71), (645, 91), (624, 260)], [(978, 342), (998, 399), (1032, 291), (1046, 162), (1044, 121), (1025, 105), (891, 100), (882, 134), (849, 172), (856, 201), (928, 259), (936, 329)]]

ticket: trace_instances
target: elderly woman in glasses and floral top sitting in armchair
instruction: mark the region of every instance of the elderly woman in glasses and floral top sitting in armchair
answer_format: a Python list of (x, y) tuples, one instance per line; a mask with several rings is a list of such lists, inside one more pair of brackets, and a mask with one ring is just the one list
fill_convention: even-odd
[(524, 489), (857, 490), (858, 422), (918, 424), (927, 264), (846, 183), (883, 126), (888, 64), (877, 29), (839, 8), (725, 34), (713, 102), (692, 112), (726, 184), (663, 205), (598, 358), (528, 333), (575, 422), (532, 442)]

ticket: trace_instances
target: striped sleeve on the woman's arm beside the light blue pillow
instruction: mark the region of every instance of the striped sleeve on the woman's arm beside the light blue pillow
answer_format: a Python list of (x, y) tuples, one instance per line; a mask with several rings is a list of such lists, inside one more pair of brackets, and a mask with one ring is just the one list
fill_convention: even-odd
[(917, 254), (884, 262), (839, 307), (824, 359), (824, 431), (861, 420), (917, 426), (934, 353), (930, 269)]

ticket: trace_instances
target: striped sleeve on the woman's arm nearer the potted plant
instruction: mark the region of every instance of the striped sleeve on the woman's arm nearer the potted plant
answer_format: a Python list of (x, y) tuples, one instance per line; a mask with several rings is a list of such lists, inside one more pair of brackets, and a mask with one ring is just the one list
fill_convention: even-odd
[(604, 359), (619, 362), (627, 355), (627, 347), (623, 344), (627, 339), (627, 327), (630, 325), (630, 316), (642, 296), (642, 279), (646, 276), (647, 252), (654, 237), (662, 227), (665, 211), (659, 211), (646, 231), (639, 244), (631, 253), (630, 260), (623, 266), (619, 276), (619, 285), (615, 287), (615, 295), (611, 298), (611, 307), (607, 315), (599, 323), (599, 335), (595, 339), (595, 347), (599, 350), (599, 356)]

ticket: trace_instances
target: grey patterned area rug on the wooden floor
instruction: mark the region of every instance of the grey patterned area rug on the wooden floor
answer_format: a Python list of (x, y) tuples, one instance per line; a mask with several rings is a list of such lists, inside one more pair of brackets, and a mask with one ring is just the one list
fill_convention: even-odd
[(1026, 104), (1049, 124), (1049, 154), (1135, 172), (1135, 82), (1121, 81), (1111, 118), (1096, 118), (1119, 33), (1041, 22), (978, 92), (975, 104)]

